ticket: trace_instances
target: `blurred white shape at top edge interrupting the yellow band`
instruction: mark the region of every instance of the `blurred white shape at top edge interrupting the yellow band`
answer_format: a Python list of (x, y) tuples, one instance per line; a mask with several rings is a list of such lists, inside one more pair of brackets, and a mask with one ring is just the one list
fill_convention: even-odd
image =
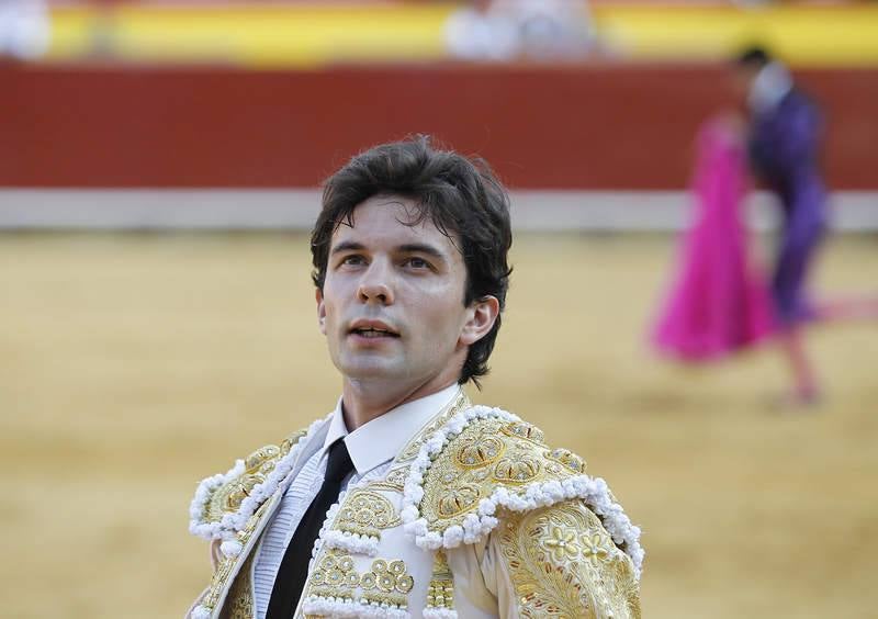
[(464, 60), (575, 59), (593, 43), (582, 0), (471, 0), (446, 24), (449, 53)]

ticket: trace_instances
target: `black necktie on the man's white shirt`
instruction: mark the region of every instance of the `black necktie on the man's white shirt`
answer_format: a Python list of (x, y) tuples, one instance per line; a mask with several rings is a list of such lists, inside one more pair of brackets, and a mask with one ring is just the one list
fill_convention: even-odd
[(323, 480), (320, 492), (302, 516), (290, 545), (283, 553), (283, 561), (274, 577), (274, 587), (271, 589), (266, 619), (290, 619), (295, 612), (308, 575), (311, 549), (326, 520), (326, 513), (338, 500), (341, 482), (351, 471), (353, 462), (350, 461), (348, 448), (344, 439), (338, 439), (329, 446), (329, 461), (326, 463), (326, 477)]

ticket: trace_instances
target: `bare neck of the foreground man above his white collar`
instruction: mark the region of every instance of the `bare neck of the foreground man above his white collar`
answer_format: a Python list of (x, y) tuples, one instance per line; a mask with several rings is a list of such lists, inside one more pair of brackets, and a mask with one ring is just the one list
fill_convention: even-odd
[[(341, 387), (345, 425), (348, 427), (348, 431), (352, 432), (397, 406), (427, 397), (452, 384), (454, 384), (453, 379), (439, 380), (437, 378), (427, 383), (408, 385), (401, 390), (397, 385), (389, 385), (383, 381), (358, 381), (346, 378)], [(396, 389), (393, 389), (394, 386)]]

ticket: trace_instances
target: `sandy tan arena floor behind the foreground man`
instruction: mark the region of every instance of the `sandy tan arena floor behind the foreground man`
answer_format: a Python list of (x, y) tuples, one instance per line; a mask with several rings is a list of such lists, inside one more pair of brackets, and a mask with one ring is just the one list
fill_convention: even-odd
[[(770, 348), (661, 362), (667, 239), (519, 236), (476, 401), (605, 476), (648, 551), (644, 617), (875, 617), (878, 324), (820, 327), (828, 397), (767, 406)], [(4, 617), (178, 617), (209, 579), (196, 482), (335, 403), (303, 236), (0, 237)], [(823, 292), (878, 289), (835, 239)]]

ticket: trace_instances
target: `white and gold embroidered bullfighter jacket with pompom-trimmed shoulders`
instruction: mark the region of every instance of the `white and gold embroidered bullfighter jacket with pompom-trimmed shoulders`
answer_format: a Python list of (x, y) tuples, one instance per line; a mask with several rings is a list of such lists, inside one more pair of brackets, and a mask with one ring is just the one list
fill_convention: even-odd
[[(258, 544), (327, 425), (200, 484), (190, 530), (215, 570), (190, 617), (255, 617)], [(295, 617), (640, 617), (639, 538), (581, 458), (461, 395), (329, 509)]]

